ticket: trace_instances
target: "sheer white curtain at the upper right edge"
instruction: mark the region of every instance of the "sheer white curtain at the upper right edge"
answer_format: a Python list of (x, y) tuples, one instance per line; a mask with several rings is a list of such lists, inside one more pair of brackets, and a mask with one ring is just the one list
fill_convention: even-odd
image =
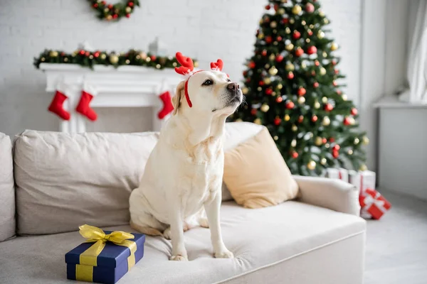
[(410, 23), (408, 25), (409, 89), (399, 99), (404, 102), (427, 104), (427, 0), (408, 1)]

